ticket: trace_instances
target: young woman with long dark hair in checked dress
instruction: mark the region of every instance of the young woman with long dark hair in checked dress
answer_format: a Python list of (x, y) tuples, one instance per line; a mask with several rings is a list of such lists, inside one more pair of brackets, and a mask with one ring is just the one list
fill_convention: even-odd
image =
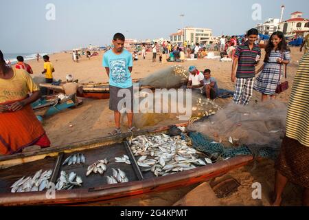
[(271, 41), (268, 41), (265, 48), (264, 65), (258, 69), (256, 74), (262, 73), (255, 79), (253, 89), (262, 94), (262, 102), (277, 97), (276, 88), (282, 78), (282, 64), (290, 63), (290, 49), (284, 39), (282, 32), (274, 32)]

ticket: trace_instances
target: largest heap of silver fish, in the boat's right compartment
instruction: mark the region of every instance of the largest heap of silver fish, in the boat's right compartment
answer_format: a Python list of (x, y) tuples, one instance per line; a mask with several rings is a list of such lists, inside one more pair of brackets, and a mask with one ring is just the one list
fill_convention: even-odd
[(138, 157), (137, 164), (144, 172), (151, 171), (156, 176), (191, 170), (196, 166), (211, 164), (208, 158), (198, 158), (197, 151), (188, 146), (181, 135), (170, 137), (161, 135), (140, 135), (130, 140), (130, 148)]

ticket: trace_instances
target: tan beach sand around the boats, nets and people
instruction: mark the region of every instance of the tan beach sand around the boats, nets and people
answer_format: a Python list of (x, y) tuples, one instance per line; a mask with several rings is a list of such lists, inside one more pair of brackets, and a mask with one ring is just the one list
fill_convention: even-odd
[[(293, 61), (288, 65), (288, 81), (290, 87), (293, 83), (293, 78), (297, 71), (298, 61), (301, 59), (302, 53), (299, 49), (292, 48)], [(175, 65), (179, 63), (166, 63), (161, 64), (159, 60), (157, 63), (152, 63), (152, 54), (148, 53), (146, 59), (134, 61), (133, 63), (133, 78), (143, 78), (156, 72), (158, 69), (162, 69), (169, 65)], [(54, 73), (54, 79), (65, 80), (67, 74), (73, 74), (74, 78), (78, 78), (80, 83), (103, 83), (108, 81), (108, 77), (104, 68), (102, 67), (102, 52), (100, 56), (94, 56), (89, 61), (85, 56), (80, 58), (79, 63), (74, 63), (69, 53), (59, 53), (50, 55), (50, 61), (54, 64), (56, 72)], [(34, 71), (34, 77), (42, 77), (43, 61), (29, 61), (27, 62), (32, 66)], [(214, 76), (218, 80), (218, 87), (225, 89), (234, 89), (233, 83), (230, 81), (231, 75), (231, 63), (221, 63), (217, 60), (198, 59), (197, 61), (185, 61), (181, 63), (185, 68), (190, 65), (195, 65), (199, 70), (211, 69), (211, 76)], [(290, 89), (279, 94), (278, 100), (282, 102), (288, 102), (290, 95)], [(219, 99), (216, 102), (225, 107), (226, 104), (231, 102), (231, 98)], [(260, 94), (254, 91), (251, 104), (254, 102), (260, 102)], [(150, 123), (153, 126), (163, 126), (167, 124), (173, 124), (179, 122), (174, 117), (157, 118), (157, 115), (153, 114), (152, 119), (155, 123)], [(150, 118), (151, 119), (151, 118)], [(73, 125), (73, 126), (69, 126)], [(52, 147), (64, 146), (73, 142), (80, 142), (84, 140), (91, 140), (96, 137), (106, 136), (109, 131), (113, 130), (114, 120), (113, 112), (108, 109), (108, 100), (91, 100), (83, 99), (83, 104), (75, 109), (68, 109), (62, 111), (57, 115), (49, 118), (45, 118), (43, 126), (50, 140), (52, 141)], [(126, 131), (126, 120), (124, 120), (123, 131)], [(241, 186), (237, 192), (233, 195), (220, 199), (220, 202), (225, 206), (269, 206), (268, 193), (273, 190), (274, 173), (273, 161), (264, 159), (262, 162), (258, 162), (254, 170), (253, 164), (244, 166), (237, 170), (229, 172), (229, 175), (237, 179)], [(251, 185), (254, 182), (260, 182), (262, 184), (262, 199), (252, 199), (251, 192), (253, 188)], [(115, 201), (109, 203), (109, 205), (119, 206), (171, 206), (178, 199), (183, 197), (186, 192), (192, 190), (193, 186), (182, 188), (181, 190), (171, 190), (169, 193), (159, 193), (156, 195), (143, 195), (142, 197), (135, 197), (132, 199), (126, 199), (126, 201)], [(284, 192), (283, 206), (299, 206), (301, 204), (301, 188), (288, 184)]]

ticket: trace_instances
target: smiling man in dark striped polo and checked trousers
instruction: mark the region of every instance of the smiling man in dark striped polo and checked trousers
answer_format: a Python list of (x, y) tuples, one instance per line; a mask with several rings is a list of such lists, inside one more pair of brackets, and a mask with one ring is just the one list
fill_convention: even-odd
[[(233, 60), (231, 82), (236, 83), (233, 103), (248, 104), (253, 94), (255, 66), (261, 57), (261, 50), (254, 42), (258, 39), (258, 30), (252, 28), (247, 32), (248, 41), (239, 45)], [(238, 65), (236, 72), (236, 65)]]

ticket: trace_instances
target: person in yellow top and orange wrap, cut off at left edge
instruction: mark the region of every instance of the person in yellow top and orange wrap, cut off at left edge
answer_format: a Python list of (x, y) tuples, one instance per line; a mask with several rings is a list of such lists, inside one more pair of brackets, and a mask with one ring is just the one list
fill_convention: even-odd
[(40, 96), (31, 76), (24, 69), (6, 66), (0, 51), (0, 155), (19, 153), (27, 146), (50, 145), (30, 105)]

